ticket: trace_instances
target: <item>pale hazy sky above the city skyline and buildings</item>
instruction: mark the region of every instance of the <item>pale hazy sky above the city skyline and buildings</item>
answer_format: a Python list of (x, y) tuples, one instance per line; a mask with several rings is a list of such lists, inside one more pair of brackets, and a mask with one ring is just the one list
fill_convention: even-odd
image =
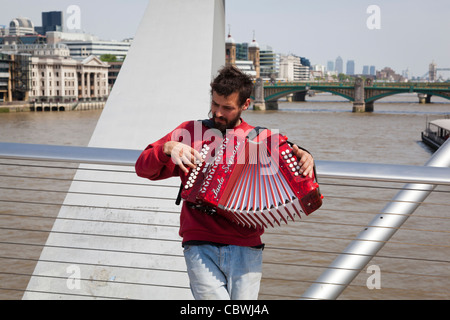
[[(76, 5), (82, 31), (122, 40), (134, 36), (148, 1), (0, 0), (0, 25), (27, 17), (40, 26), (41, 12)], [(448, 0), (226, 0), (226, 32), (238, 43), (251, 42), (254, 32), (260, 45), (312, 64), (341, 56), (344, 67), (355, 61), (357, 73), (375, 65), (423, 76), (432, 61), (450, 68), (449, 15)]]

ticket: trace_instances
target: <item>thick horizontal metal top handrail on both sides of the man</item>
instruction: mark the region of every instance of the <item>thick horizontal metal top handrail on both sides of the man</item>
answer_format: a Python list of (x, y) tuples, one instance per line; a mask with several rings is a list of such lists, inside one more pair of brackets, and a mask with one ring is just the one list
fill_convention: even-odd
[[(0, 158), (134, 166), (140, 150), (0, 143)], [(318, 176), (368, 181), (450, 185), (450, 169), (340, 161), (316, 161)]]

